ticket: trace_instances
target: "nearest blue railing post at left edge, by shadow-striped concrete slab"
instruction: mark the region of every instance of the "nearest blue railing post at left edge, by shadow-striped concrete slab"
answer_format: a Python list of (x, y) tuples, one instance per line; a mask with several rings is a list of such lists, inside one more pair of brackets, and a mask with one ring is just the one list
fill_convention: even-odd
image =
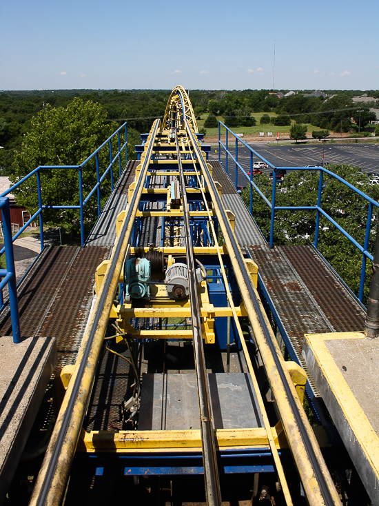
[[(5, 203), (3, 203), (5, 201)], [(1, 212), (3, 214), (4, 245), (6, 248), (7, 271), (12, 274), (8, 281), (10, 319), (12, 321), (13, 342), (21, 343), (19, 304), (17, 302), (16, 268), (14, 267), (12, 228), (10, 225), (9, 199), (0, 199), (3, 203)]]

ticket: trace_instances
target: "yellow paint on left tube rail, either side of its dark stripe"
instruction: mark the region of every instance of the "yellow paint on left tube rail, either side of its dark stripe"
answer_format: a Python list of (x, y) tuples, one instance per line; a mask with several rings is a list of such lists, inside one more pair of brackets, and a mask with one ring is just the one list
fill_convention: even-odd
[[(145, 156), (150, 148), (150, 143), (154, 143), (155, 132), (158, 128), (159, 120), (156, 120), (152, 126), (152, 130), (150, 130), (150, 139), (147, 140), (145, 151), (141, 156), (141, 159), (145, 159)], [(148, 162), (148, 161), (146, 161)], [(147, 172), (147, 165), (145, 167), (145, 173)], [(116, 268), (112, 275), (112, 279), (110, 281), (110, 289), (107, 292), (107, 296), (105, 299), (105, 305), (103, 307), (99, 307), (99, 302), (101, 300), (101, 294), (103, 292), (103, 288), (105, 283), (101, 285), (100, 292), (97, 296), (96, 303), (94, 305), (94, 311), (92, 312), (92, 317), (90, 318), (90, 322), (88, 325), (88, 330), (85, 332), (83, 337), (83, 342), (81, 345), (81, 349), (79, 350), (79, 354), (76, 359), (74, 374), (71, 378), (71, 381), (68, 385), (68, 390), (63, 398), (63, 403), (61, 405), (61, 409), (59, 411), (57, 422), (54, 426), (54, 430), (52, 432), (52, 436), (50, 438), (50, 443), (48, 445), (48, 449), (45, 453), (45, 458), (43, 459), (43, 463), (41, 466), (41, 470), (37, 477), (37, 482), (34, 486), (34, 490), (32, 493), (32, 498), (30, 499), (30, 506), (36, 506), (39, 503), (39, 496), (43, 491), (45, 485), (45, 476), (48, 474), (48, 469), (50, 467), (50, 462), (52, 460), (52, 456), (54, 453), (54, 447), (57, 443), (57, 439), (59, 437), (63, 418), (65, 417), (66, 410), (68, 409), (68, 403), (70, 397), (73, 395), (72, 388), (76, 380), (76, 376), (79, 372), (79, 365), (81, 361), (83, 361), (83, 354), (85, 352), (85, 346), (88, 342), (88, 338), (90, 337), (90, 332), (92, 331), (92, 327), (94, 325), (94, 319), (96, 312), (101, 312), (101, 316), (99, 318), (99, 323), (96, 327), (96, 332), (94, 334), (94, 339), (92, 341), (92, 347), (90, 349), (90, 355), (88, 356), (88, 361), (85, 367), (85, 372), (81, 378), (81, 386), (79, 388), (79, 394), (76, 397), (76, 401), (74, 403), (74, 407), (72, 412), (70, 413), (70, 425), (68, 426), (68, 430), (65, 433), (63, 445), (61, 449), (61, 453), (59, 459), (57, 461), (57, 465), (54, 469), (54, 474), (52, 477), (51, 485), (49, 485), (49, 489), (47, 492), (45, 506), (55, 506), (61, 503), (61, 498), (63, 497), (63, 493), (65, 490), (66, 481), (68, 479), (68, 474), (70, 472), (70, 465), (72, 462), (72, 458), (74, 456), (74, 452), (76, 449), (77, 441), (79, 440), (79, 435), (81, 432), (81, 425), (83, 421), (83, 416), (85, 414), (85, 409), (87, 407), (90, 392), (92, 390), (92, 384), (94, 381), (94, 375), (96, 372), (97, 361), (99, 360), (99, 354), (101, 351), (101, 347), (103, 345), (103, 338), (105, 335), (105, 331), (107, 329), (107, 324), (110, 317), (110, 312), (112, 309), (112, 304), (114, 301), (114, 294), (116, 293), (116, 288), (119, 284), (121, 270), (123, 268), (123, 258), (126, 254), (127, 246), (130, 240), (130, 235), (132, 233), (132, 228), (134, 226), (134, 219), (136, 215), (137, 206), (139, 200), (141, 199), (143, 185), (138, 188), (137, 197), (136, 197), (136, 205), (134, 206), (134, 210), (131, 215), (130, 222), (127, 223), (127, 228), (125, 232), (125, 236), (121, 237), (121, 235), (117, 236), (116, 243), (114, 244), (114, 248), (112, 250), (112, 255), (110, 261), (112, 262), (115, 257), (115, 252), (117, 250), (117, 246), (119, 241), (121, 241), (121, 252), (119, 257), (116, 259)], [(105, 279), (107, 276), (110, 276), (110, 265), (107, 266), (107, 270), (105, 272)]]

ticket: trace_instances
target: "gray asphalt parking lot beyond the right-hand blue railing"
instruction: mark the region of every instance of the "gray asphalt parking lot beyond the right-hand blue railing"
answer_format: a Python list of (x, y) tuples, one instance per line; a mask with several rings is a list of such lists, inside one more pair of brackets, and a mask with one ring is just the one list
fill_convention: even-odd
[[(268, 145), (262, 143), (249, 144), (263, 159), (272, 163), (275, 167), (305, 167), (305, 165), (319, 165), (322, 161), (322, 149), (324, 149), (324, 161), (328, 163), (347, 163), (361, 167), (367, 174), (377, 172), (379, 174), (379, 145), (378, 144), (338, 144), (330, 145), (322, 143), (312, 145)], [(234, 154), (234, 145), (229, 146), (229, 151)], [(218, 159), (218, 147), (212, 146), (209, 159)], [(253, 156), (254, 161), (259, 161), (258, 156)], [(221, 152), (221, 162), (225, 168), (225, 152)], [(250, 154), (245, 146), (238, 148), (238, 162), (248, 172), (250, 170)], [(269, 168), (266, 172), (271, 172)], [(239, 171), (240, 172), (240, 171)], [(234, 181), (235, 164), (232, 159), (228, 161), (228, 174)], [(238, 174), (238, 185), (245, 186), (246, 178), (242, 173)]]

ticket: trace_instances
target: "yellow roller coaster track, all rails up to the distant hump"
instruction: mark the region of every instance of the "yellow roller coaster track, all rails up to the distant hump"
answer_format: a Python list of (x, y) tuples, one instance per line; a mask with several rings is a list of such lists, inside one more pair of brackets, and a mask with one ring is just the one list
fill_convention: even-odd
[[(145, 185), (147, 171), (150, 161), (152, 161), (154, 147), (159, 142), (158, 138), (163, 135), (163, 132), (165, 132), (165, 135), (169, 136), (176, 145), (176, 158), (180, 174), (181, 195), (183, 197), (184, 235), (187, 266), (189, 270), (189, 298), (193, 322), (192, 332), (207, 503), (209, 505), (221, 505), (221, 494), (216, 461), (216, 444), (214, 441), (212, 416), (209, 407), (209, 387), (207, 385), (203, 338), (201, 336), (200, 312), (196, 297), (194, 255), (189, 232), (189, 212), (182, 166), (182, 157), (187, 156), (188, 159), (188, 155), (193, 162), (196, 160), (196, 163), (200, 167), (198, 179), (203, 178), (205, 180), (207, 192), (209, 192), (212, 199), (213, 210), (221, 226), (221, 232), (229, 254), (229, 259), (232, 263), (234, 275), (236, 276), (240, 294), (245, 303), (247, 316), (265, 365), (267, 378), (280, 414), (280, 420), (283, 424), (296, 467), (298, 468), (307, 500), (312, 506), (338, 505), (340, 504), (340, 500), (334, 483), (331, 480), (329, 471), (322, 458), (314, 433), (307, 421), (307, 416), (300, 404), (289, 372), (285, 367), (283, 356), (263, 310), (263, 305), (256, 292), (256, 287), (254, 283), (252, 283), (252, 278), (247, 270), (243, 254), (240, 251), (234, 231), (232, 230), (232, 226), (223, 208), (221, 197), (212, 179), (209, 167), (205, 161), (205, 156), (201, 151), (201, 145), (196, 139), (197, 125), (194, 112), (187, 93), (181, 86), (173, 90), (170, 100), (167, 103), (162, 124), (159, 120), (154, 122), (145, 144), (145, 151), (141, 156), (141, 168), (136, 171), (134, 192), (132, 193), (127, 212), (125, 212), (125, 218), (121, 225), (121, 232), (118, 234), (112, 250), (112, 256), (107, 266), (107, 271), (105, 272), (104, 281), (101, 285), (100, 292), (97, 294), (94, 311), (92, 312), (88, 324), (88, 330), (85, 332), (83, 338), (75, 370), (68, 385), (68, 390), (65, 394), (57, 423), (54, 427), (54, 432), (37, 478), (30, 505), (59, 505), (65, 492), (65, 486), (70, 473), (70, 465), (74, 458), (83, 418), (90, 400), (96, 373), (96, 364), (98, 363), (101, 347), (103, 346), (103, 339), (110, 318), (112, 303), (121, 276), (125, 256), (127, 255), (127, 249), (130, 243), (134, 220), (137, 216), (139, 201)], [(229, 289), (227, 289), (227, 296), (229, 300), (232, 301)], [(234, 318), (236, 319), (238, 330), (240, 330), (235, 311)], [(252, 367), (250, 367), (251, 361), (243, 339), (241, 339), (241, 342), (249, 365), (249, 371), (254, 376), (254, 371)], [(252, 378), (252, 381), (254, 387), (257, 388), (255, 378)], [(260, 394), (259, 392), (256, 393), (259, 400)], [(261, 401), (260, 405), (263, 406)], [(276, 464), (276, 471), (282, 482), (286, 503), (290, 505), (292, 501), (286, 485), (285, 472), (283, 471), (278, 452), (273, 443), (267, 415), (263, 413), (263, 417), (265, 419), (265, 427), (267, 429), (270, 448), (272, 449)]]

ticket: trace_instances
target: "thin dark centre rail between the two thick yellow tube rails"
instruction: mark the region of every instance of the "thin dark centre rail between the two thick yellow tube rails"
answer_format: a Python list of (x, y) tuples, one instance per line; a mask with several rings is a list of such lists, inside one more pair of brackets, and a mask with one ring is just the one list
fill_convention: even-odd
[(216, 443), (214, 441), (214, 429), (210, 408), (210, 394), (207, 369), (203, 347), (203, 335), (201, 332), (200, 311), (198, 309), (198, 295), (196, 283), (196, 267), (194, 262), (194, 250), (189, 227), (189, 211), (183, 165), (181, 163), (181, 150), (178, 136), (175, 132), (176, 154), (178, 156), (179, 179), (181, 183), (181, 196), (183, 199), (185, 255), (187, 257), (188, 281), (189, 281), (189, 304), (192, 316), (192, 335), (194, 343), (194, 359), (196, 384), (198, 392), (198, 407), (200, 412), (201, 445), (203, 447), (203, 467), (205, 480), (205, 494), (207, 505), (221, 506), (220, 480), (218, 478), (218, 466), (216, 459)]

